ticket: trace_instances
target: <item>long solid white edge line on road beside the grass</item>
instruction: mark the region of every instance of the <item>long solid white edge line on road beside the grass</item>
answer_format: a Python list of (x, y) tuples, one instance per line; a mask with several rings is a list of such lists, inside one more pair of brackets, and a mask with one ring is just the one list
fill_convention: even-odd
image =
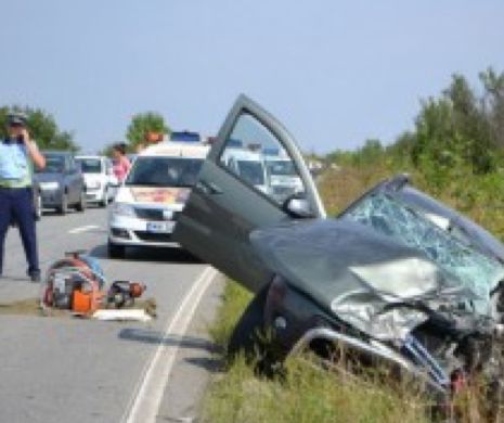
[[(207, 267), (194, 282), (191, 290), (180, 303), (179, 308), (163, 333), (159, 346), (150, 362), (146, 363), (137, 389), (130, 400), (129, 407), (121, 419), (124, 423), (154, 423), (168, 384), (171, 369), (179, 350), (182, 337), (196, 311), (203, 294), (214, 281), (217, 271)], [(175, 334), (180, 335), (180, 341), (169, 345)]]

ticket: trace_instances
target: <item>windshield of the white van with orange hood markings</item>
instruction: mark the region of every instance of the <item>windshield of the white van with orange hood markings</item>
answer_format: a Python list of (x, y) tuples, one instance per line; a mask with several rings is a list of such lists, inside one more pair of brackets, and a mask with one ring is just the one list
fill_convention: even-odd
[(126, 180), (127, 185), (193, 187), (202, 158), (138, 157)]

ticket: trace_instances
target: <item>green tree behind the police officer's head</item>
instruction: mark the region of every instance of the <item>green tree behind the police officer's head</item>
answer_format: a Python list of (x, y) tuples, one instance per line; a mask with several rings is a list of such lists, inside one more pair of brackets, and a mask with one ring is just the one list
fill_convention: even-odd
[(69, 150), (78, 151), (79, 146), (74, 142), (74, 136), (68, 131), (61, 131), (54, 120), (54, 117), (41, 108), (31, 108), (29, 106), (21, 107), (3, 106), (0, 107), (0, 137), (7, 136), (7, 119), (9, 113), (23, 112), (27, 115), (28, 129), (31, 137), (42, 150)]

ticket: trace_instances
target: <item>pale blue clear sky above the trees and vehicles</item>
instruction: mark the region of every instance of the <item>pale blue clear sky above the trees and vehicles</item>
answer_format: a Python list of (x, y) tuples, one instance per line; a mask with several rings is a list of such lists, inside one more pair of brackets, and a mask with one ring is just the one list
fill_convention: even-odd
[(0, 105), (85, 152), (137, 113), (214, 134), (240, 93), (305, 151), (392, 142), (453, 73), (504, 70), (502, 0), (0, 0)]

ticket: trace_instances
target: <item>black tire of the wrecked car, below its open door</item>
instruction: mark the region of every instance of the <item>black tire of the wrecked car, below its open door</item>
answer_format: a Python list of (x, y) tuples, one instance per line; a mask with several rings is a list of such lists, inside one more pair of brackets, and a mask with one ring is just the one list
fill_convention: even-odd
[(255, 371), (264, 376), (279, 374), (283, 359), (276, 354), (274, 335), (264, 326), (264, 306), (270, 284), (267, 284), (248, 304), (228, 343), (228, 357), (233, 360), (244, 355)]

